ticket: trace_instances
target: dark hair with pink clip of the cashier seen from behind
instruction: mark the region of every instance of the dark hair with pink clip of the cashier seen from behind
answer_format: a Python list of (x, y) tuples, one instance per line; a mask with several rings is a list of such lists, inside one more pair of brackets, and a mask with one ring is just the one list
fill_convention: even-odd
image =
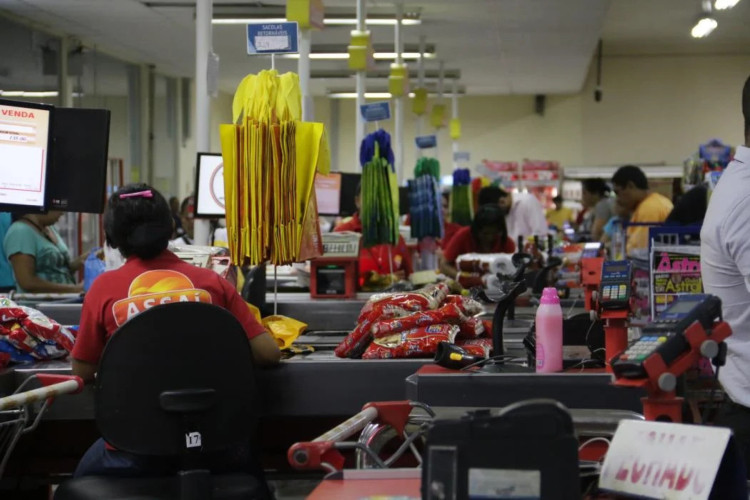
[[(129, 193), (150, 193), (121, 197)], [(124, 257), (135, 255), (152, 259), (167, 248), (174, 231), (172, 211), (167, 200), (147, 184), (128, 184), (107, 203), (104, 233), (107, 244)]]

